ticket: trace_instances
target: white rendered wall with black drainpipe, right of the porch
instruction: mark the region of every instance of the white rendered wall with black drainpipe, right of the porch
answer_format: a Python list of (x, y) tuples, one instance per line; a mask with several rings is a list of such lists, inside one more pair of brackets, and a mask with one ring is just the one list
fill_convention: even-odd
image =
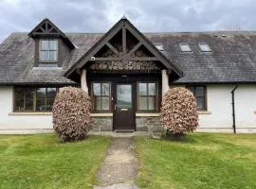
[[(208, 111), (199, 114), (197, 131), (232, 132), (231, 90), (235, 85), (208, 85)], [(235, 91), (237, 132), (256, 132), (256, 85), (241, 84)]]

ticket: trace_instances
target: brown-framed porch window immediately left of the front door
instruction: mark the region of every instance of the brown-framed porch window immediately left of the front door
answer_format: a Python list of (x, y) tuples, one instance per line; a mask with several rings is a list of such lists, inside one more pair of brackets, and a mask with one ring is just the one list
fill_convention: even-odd
[(110, 111), (110, 83), (92, 83), (92, 99), (94, 111)]

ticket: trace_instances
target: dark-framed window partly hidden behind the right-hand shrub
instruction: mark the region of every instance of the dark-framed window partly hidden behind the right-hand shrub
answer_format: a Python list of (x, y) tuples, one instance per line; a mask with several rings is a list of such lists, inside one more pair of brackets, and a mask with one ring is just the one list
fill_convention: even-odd
[(206, 87), (205, 86), (188, 86), (187, 87), (196, 98), (197, 109), (206, 111)]

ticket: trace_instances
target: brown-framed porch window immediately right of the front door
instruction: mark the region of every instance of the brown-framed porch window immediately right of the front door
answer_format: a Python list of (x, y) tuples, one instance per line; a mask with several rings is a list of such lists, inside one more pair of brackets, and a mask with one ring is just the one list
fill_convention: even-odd
[(157, 86), (155, 82), (138, 83), (138, 111), (156, 111), (157, 110)]

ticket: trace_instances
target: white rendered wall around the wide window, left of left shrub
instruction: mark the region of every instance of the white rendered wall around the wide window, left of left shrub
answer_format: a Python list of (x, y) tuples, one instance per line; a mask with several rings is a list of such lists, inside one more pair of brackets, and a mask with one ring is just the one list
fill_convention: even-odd
[(52, 129), (52, 116), (45, 114), (12, 113), (12, 87), (0, 86), (0, 131)]

